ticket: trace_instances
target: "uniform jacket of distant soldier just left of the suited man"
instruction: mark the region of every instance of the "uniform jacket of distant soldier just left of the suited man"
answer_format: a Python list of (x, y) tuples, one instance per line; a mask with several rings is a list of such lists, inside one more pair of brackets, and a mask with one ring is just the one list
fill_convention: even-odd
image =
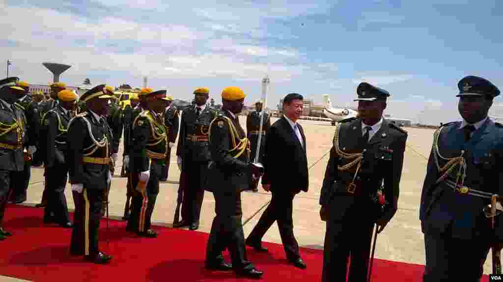
[[(262, 162), (262, 157), (264, 155), (264, 149), (266, 144), (266, 132), (267, 129), (271, 126), (271, 117), (269, 114), (264, 112), (264, 120), (262, 124), (262, 137), (260, 143), (260, 153), (259, 153), (259, 162)], [(257, 152), (257, 143), (259, 140), (259, 132), (260, 131), (260, 112), (253, 111), (246, 116), (246, 133), (248, 139), (250, 140), (251, 145), (251, 155), (250, 158), (253, 160), (255, 158), (255, 154)]]

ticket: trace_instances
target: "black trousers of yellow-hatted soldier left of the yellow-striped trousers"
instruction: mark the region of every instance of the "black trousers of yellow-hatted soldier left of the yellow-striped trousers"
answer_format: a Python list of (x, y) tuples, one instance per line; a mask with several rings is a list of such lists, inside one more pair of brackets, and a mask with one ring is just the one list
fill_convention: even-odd
[(58, 223), (69, 222), (68, 206), (64, 189), (68, 180), (68, 166), (55, 162), (54, 166), (46, 169), (47, 182), (47, 206), (44, 210), (44, 218), (54, 217)]

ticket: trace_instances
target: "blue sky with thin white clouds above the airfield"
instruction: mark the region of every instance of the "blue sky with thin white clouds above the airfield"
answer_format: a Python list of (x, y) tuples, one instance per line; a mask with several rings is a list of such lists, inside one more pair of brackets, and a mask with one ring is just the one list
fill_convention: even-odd
[[(237, 4), (236, 4), (237, 3)], [(238, 86), (250, 105), (269, 75), (268, 107), (297, 92), (356, 106), (362, 81), (391, 96), (385, 113), (413, 122), (459, 120), (458, 81), (503, 90), (502, 1), (4, 0), (0, 58), (10, 76), (49, 83), (42, 62), (71, 65), (60, 81), (141, 87), (220, 100)], [(0, 72), (1, 74), (1, 72)], [(490, 114), (503, 117), (503, 95)]]

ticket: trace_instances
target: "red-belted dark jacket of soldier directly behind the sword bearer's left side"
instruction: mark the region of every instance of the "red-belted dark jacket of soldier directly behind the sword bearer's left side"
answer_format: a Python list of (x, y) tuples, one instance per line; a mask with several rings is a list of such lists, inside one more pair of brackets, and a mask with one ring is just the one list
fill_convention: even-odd
[(196, 114), (195, 106), (187, 107), (182, 112), (177, 156), (182, 157), (184, 162), (209, 162), (211, 160), (208, 129), (215, 116), (216, 111), (208, 105), (199, 116)]

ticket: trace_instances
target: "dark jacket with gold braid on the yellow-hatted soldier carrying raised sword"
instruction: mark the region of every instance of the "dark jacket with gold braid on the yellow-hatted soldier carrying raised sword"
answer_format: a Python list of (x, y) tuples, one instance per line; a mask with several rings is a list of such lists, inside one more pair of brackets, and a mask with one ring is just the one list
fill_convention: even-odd
[(213, 189), (241, 192), (248, 189), (249, 140), (239, 121), (228, 111), (219, 111), (210, 128)]

